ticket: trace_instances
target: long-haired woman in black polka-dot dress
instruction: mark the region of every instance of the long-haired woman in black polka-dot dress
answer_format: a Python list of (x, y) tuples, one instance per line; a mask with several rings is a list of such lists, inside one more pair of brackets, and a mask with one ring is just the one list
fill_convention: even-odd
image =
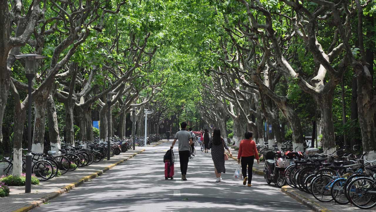
[(220, 182), (222, 181), (221, 173), (226, 173), (226, 168), (224, 167), (224, 150), (227, 149), (230, 157), (232, 157), (232, 154), (227, 143), (224, 142), (224, 139), (221, 137), (221, 131), (219, 129), (214, 129), (213, 137), (209, 140), (208, 147), (211, 149), (214, 172), (217, 177), (216, 182)]

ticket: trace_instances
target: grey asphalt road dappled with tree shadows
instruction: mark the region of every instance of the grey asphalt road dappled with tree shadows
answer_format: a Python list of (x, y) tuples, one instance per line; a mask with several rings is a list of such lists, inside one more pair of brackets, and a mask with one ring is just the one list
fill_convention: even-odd
[(223, 181), (216, 183), (211, 154), (197, 147), (190, 159), (187, 179), (181, 181), (177, 144), (174, 180), (165, 180), (163, 155), (170, 143), (147, 147), (146, 151), (115, 166), (63, 194), (33, 212), (114, 212), (114, 211), (311, 211), (280, 191), (269, 186), (264, 177), (253, 175), (252, 187), (233, 178), (235, 160), (226, 161)]

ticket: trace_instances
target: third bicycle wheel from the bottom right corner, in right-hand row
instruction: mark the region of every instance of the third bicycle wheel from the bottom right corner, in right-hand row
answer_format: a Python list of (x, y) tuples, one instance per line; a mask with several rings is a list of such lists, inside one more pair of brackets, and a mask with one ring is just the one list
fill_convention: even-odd
[(330, 191), (332, 179), (332, 176), (323, 174), (312, 180), (312, 195), (316, 200), (320, 202), (330, 202), (333, 200)]

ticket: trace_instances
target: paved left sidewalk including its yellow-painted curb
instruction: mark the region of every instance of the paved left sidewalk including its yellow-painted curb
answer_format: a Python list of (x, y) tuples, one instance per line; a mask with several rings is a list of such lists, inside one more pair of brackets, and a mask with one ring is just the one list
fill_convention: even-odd
[[(155, 142), (148, 146), (153, 147), (162, 142)], [(129, 158), (145, 151), (144, 147), (136, 146), (135, 150), (121, 152), (120, 155), (114, 155), (111, 160), (92, 163), (90, 166), (78, 167), (75, 171), (55, 177), (50, 180), (40, 182), (39, 185), (32, 185), (31, 193), (24, 193), (24, 186), (10, 186), (10, 195), (0, 198), (0, 208), (2, 212), (24, 212), (31, 210), (43, 204), (52, 198), (63, 194), (80, 184), (102, 175), (112, 167), (120, 164)]]

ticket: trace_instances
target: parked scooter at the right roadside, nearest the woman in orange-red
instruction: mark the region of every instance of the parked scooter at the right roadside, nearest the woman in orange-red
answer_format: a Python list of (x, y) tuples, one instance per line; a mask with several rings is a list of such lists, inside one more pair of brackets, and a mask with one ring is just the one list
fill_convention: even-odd
[(266, 182), (268, 184), (273, 182), (278, 187), (286, 185), (285, 169), (290, 165), (290, 160), (278, 157), (276, 152), (273, 151), (264, 154), (264, 158), (264, 178)]

